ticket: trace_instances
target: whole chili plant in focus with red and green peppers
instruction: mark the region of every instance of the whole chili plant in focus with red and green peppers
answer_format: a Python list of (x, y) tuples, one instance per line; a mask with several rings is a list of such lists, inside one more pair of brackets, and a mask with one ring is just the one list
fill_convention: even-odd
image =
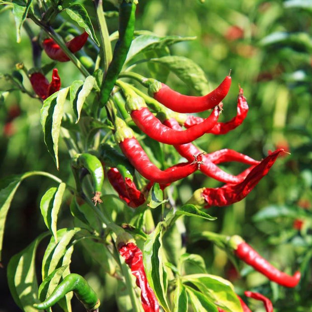
[[(227, 134), (248, 119), (244, 86), (231, 87), (235, 72), (228, 69), (222, 73), (225, 79), (208, 91), (201, 67), (170, 52), (172, 45), (194, 38), (139, 31), (137, 0), (113, 3), (0, 3), (12, 9), (17, 41), (27, 35), (32, 49), (32, 63), (21, 59), (11, 74), (5, 74), (12, 88), (2, 97), (19, 90), (37, 102), (43, 141), (59, 170), (56, 174), (30, 171), (1, 181), (0, 251), (9, 208), (21, 182), (44, 176), (54, 183), (38, 203), (46, 231), (5, 264), (16, 304), (26, 312), (50, 310), (56, 304), (71, 311), (74, 293), (88, 311), (102, 306), (107, 310), (110, 298), (103, 289), (114, 289), (112, 309), (121, 312), (242, 312), (250, 310), (245, 303), (249, 297), (272, 311), (271, 293), (266, 297), (244, 289), (242, 299), (243, 289), (211, 272), (201, 255), (187, 253), (187, 248), (198, 240), (212, 242), (237, 268), (234, 256), (282, 287), (298, 285), (300, 273), (288, 274), (296, 268), (287, 267), (286, 274), (284, 267), (271, 265), (243, 239), (208, 230), (191, 233), (186, 222), (200, 218), (208, 227), (216, 217), (206, 209), (243, 200), (285, 150), (267, 151), (262, 160), (255, 160), (225, 147), (212, 152), (200, 148), (200, 140)], [(66, 73), (65, 62), (69, 72), (76, 70), (74, 74)], [(49, 83), (46, 74), (51, 69)], [(169, 71), (193, 93), (170, 87)], [(221, 112), (233, 103), (226, 97), (230, 87), (237, 88), (233, 91), (238, 94), (237, 113), (222, 120)], [(199, 112), (204, 118), (194, 115)], [(67, 156), (60, 157), (59, 151)], [(234, 174), (218, 166), (228, 162), (246, 168)], [(60, 178), (62, 171), (71, 174)], [(208, 177), (224, 185), (198, 188), (194, 183), (189, 198), (177, 198), (182, 183)], [(63, 218), (66, 206), (70, 218)], [(35, 260), (41, 242), (45, 248), (37, 280)], [(74, 251), (86, 263), (99, 263), (104, 271), (99, 278), (102, 287), (91, 285), (92, 278), (77, 268), (75, 261), (81, 259), (74, 257)], [(100, 271), (96, 266), (86, 269), (89, 274)]]

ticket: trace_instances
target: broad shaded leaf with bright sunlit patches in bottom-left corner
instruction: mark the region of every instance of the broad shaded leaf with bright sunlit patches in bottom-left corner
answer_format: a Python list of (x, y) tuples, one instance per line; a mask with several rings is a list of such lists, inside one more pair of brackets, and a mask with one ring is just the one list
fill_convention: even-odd
[(38, 303), (38, 285), (35, 269), (35, 256), (38, 244), (48, 233), (42, 233), (23, 251), (11, 258), (7, 275), (11, 294), (25, 312), (38, 311), (33, 307)]

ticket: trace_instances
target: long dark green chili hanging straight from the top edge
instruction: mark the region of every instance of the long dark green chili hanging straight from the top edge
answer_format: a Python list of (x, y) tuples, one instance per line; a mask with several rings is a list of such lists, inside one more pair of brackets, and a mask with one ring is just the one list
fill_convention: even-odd
[(116, 42), (113, 59), (109, 64), (101, 85), (101, 106), (103, 107), (112, 92), (121, 68), (126, 60), (134, 32), (137, 0), (123, 0), (119, 7), (119, 38)]

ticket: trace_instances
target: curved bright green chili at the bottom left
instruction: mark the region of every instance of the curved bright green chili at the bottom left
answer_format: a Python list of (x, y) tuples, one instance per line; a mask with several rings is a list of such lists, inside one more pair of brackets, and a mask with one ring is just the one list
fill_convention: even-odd
[(81, 275), (74, 273), (65, 276), (61, 283), (56, 286), (49, 298), (41, 303), (34, 304), (34, 307), (37, 309), (46, 309), (63, 298), (69, 291), (74, 292), (88, 311), (98, 310), (100, 300), (97, 294)]

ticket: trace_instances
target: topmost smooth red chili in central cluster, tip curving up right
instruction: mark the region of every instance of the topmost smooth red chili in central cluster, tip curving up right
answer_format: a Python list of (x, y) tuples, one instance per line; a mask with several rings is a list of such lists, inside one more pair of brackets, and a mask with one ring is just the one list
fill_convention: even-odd
[(205, 96), (187, 96), (161, 84), (161, 89), (152, 93), (152, 97), (171, 110), (179, 113), (198, 113), (218, 105), (227, 95), (231, 85), (231, 77), (226, 76), (222, 83)]

